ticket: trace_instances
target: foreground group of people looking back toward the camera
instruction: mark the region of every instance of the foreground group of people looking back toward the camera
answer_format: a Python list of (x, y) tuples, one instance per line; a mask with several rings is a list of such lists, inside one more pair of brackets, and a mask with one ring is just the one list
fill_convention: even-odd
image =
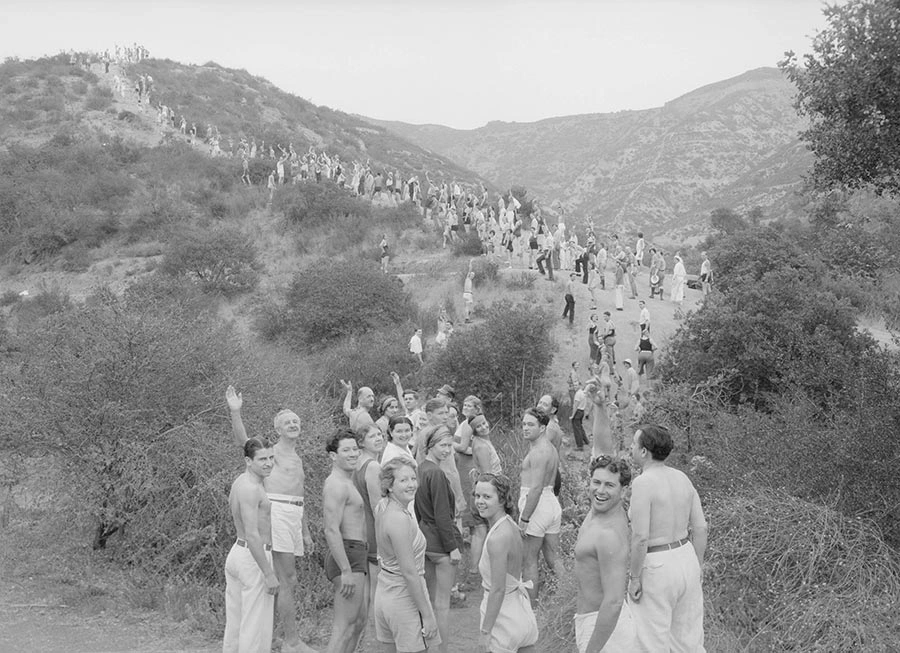
[[(542, 396), (521, 416), (517, 437), (527, 453), (512, 463), (519, 465), (515, 488), (478, 397), (459, 405), (449, 385), (423, 397), (403, 388), (398, 375), (392, 380), (395, 393), (377, 402), (371, 388), (354, 392), (342, 382), (346, 423), (325, 443), (332, 469), (321, 493), (324, 573), (334, 591), (326, 650), (355, 651), (369, 623), (383, 651), (451, 650), (451, 597), (465, 557), (483, 588), (477, 650), (536, 651), (540, 557), (551, 573), (566, 573), (559, 398)], [(592, 457), (581, 481), (590, 509), (574, 547), (575, 644), (593, 653), (703, 651), (706, 522), (698, 495), (665, 464), (673, 447), (665, 428), (638, 425), (630, 454), (622, 455), (604, 392), (596, 371), (576, 392), (587, 398), (578, 410), (588, 416), (590, 436), (583, 437)], [(271, 444), (248, 437), (243, 398), (233, 387), (226, 401), (246, 469), (229, 499), (237, 538), (226, 561), (224, 651), (271, 650), (277, 605), (282, 651), (309, 652), (294, 604), (294, 556), (313, 545), (300, 420), (279, 412)], [(633, 469), (641, 470), (634, 480)], [(630, 519), (623, 507), (629, 487)]]

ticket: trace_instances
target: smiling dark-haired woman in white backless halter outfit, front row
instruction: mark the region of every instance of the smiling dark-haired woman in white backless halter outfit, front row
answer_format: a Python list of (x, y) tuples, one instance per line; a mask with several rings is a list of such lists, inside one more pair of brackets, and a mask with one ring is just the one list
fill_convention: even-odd
[(481, 599), (479, 653), (533, 653), (538, 639), (528, 586), (522, 582), (522, 536), (510, 516), (512, 484), (502, 474), (482, 474), (475, 483), (475, 507), (490, 526), (478, 562)]

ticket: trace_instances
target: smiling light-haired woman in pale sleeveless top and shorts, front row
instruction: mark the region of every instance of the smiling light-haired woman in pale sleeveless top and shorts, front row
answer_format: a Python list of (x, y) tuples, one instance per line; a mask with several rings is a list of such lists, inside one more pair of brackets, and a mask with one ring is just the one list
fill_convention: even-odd
[(375, 508), (381, 573), (375, 588), (375, 637), (385, 653), (423, 653), (440, 644), (425, 586), (426, 541), (408, 506), (416, 496), (415, 463), (405, 456), (385, 463), (382, 499)]

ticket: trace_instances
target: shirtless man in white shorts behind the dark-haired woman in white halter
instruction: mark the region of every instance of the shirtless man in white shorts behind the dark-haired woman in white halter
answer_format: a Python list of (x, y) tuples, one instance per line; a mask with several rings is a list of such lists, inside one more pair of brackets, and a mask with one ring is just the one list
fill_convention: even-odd
[(522, 578), (532, 581), (529, 590), (532, 602), (538, 597), (538, 554), (553, 573), (565, 572), (559, 559), (559, 531), (562, 506), (553, 493), (553, 482), (559, 471), (559, 453), (547, 436), (550, 417), (529, 408), (522, 415), (522, 435), (530, 448), (522, 461), (522, 490), (519, 494), (519, 530), (525, 539), (522, 560)]

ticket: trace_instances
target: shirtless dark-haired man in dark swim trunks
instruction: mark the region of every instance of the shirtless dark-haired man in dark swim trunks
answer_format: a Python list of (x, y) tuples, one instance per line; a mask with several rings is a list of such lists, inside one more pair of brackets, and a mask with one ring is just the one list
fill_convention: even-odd
[(334, 621), (328, 653), (353, 653), (368, 616), (368, 537), (363, 498), (353, 483), (359, 459), (359, 440), (352, 431), (339, 429), (325, 445), (331, 474), (322, 488), (324, 497), (325, 575), (334, 585)]

